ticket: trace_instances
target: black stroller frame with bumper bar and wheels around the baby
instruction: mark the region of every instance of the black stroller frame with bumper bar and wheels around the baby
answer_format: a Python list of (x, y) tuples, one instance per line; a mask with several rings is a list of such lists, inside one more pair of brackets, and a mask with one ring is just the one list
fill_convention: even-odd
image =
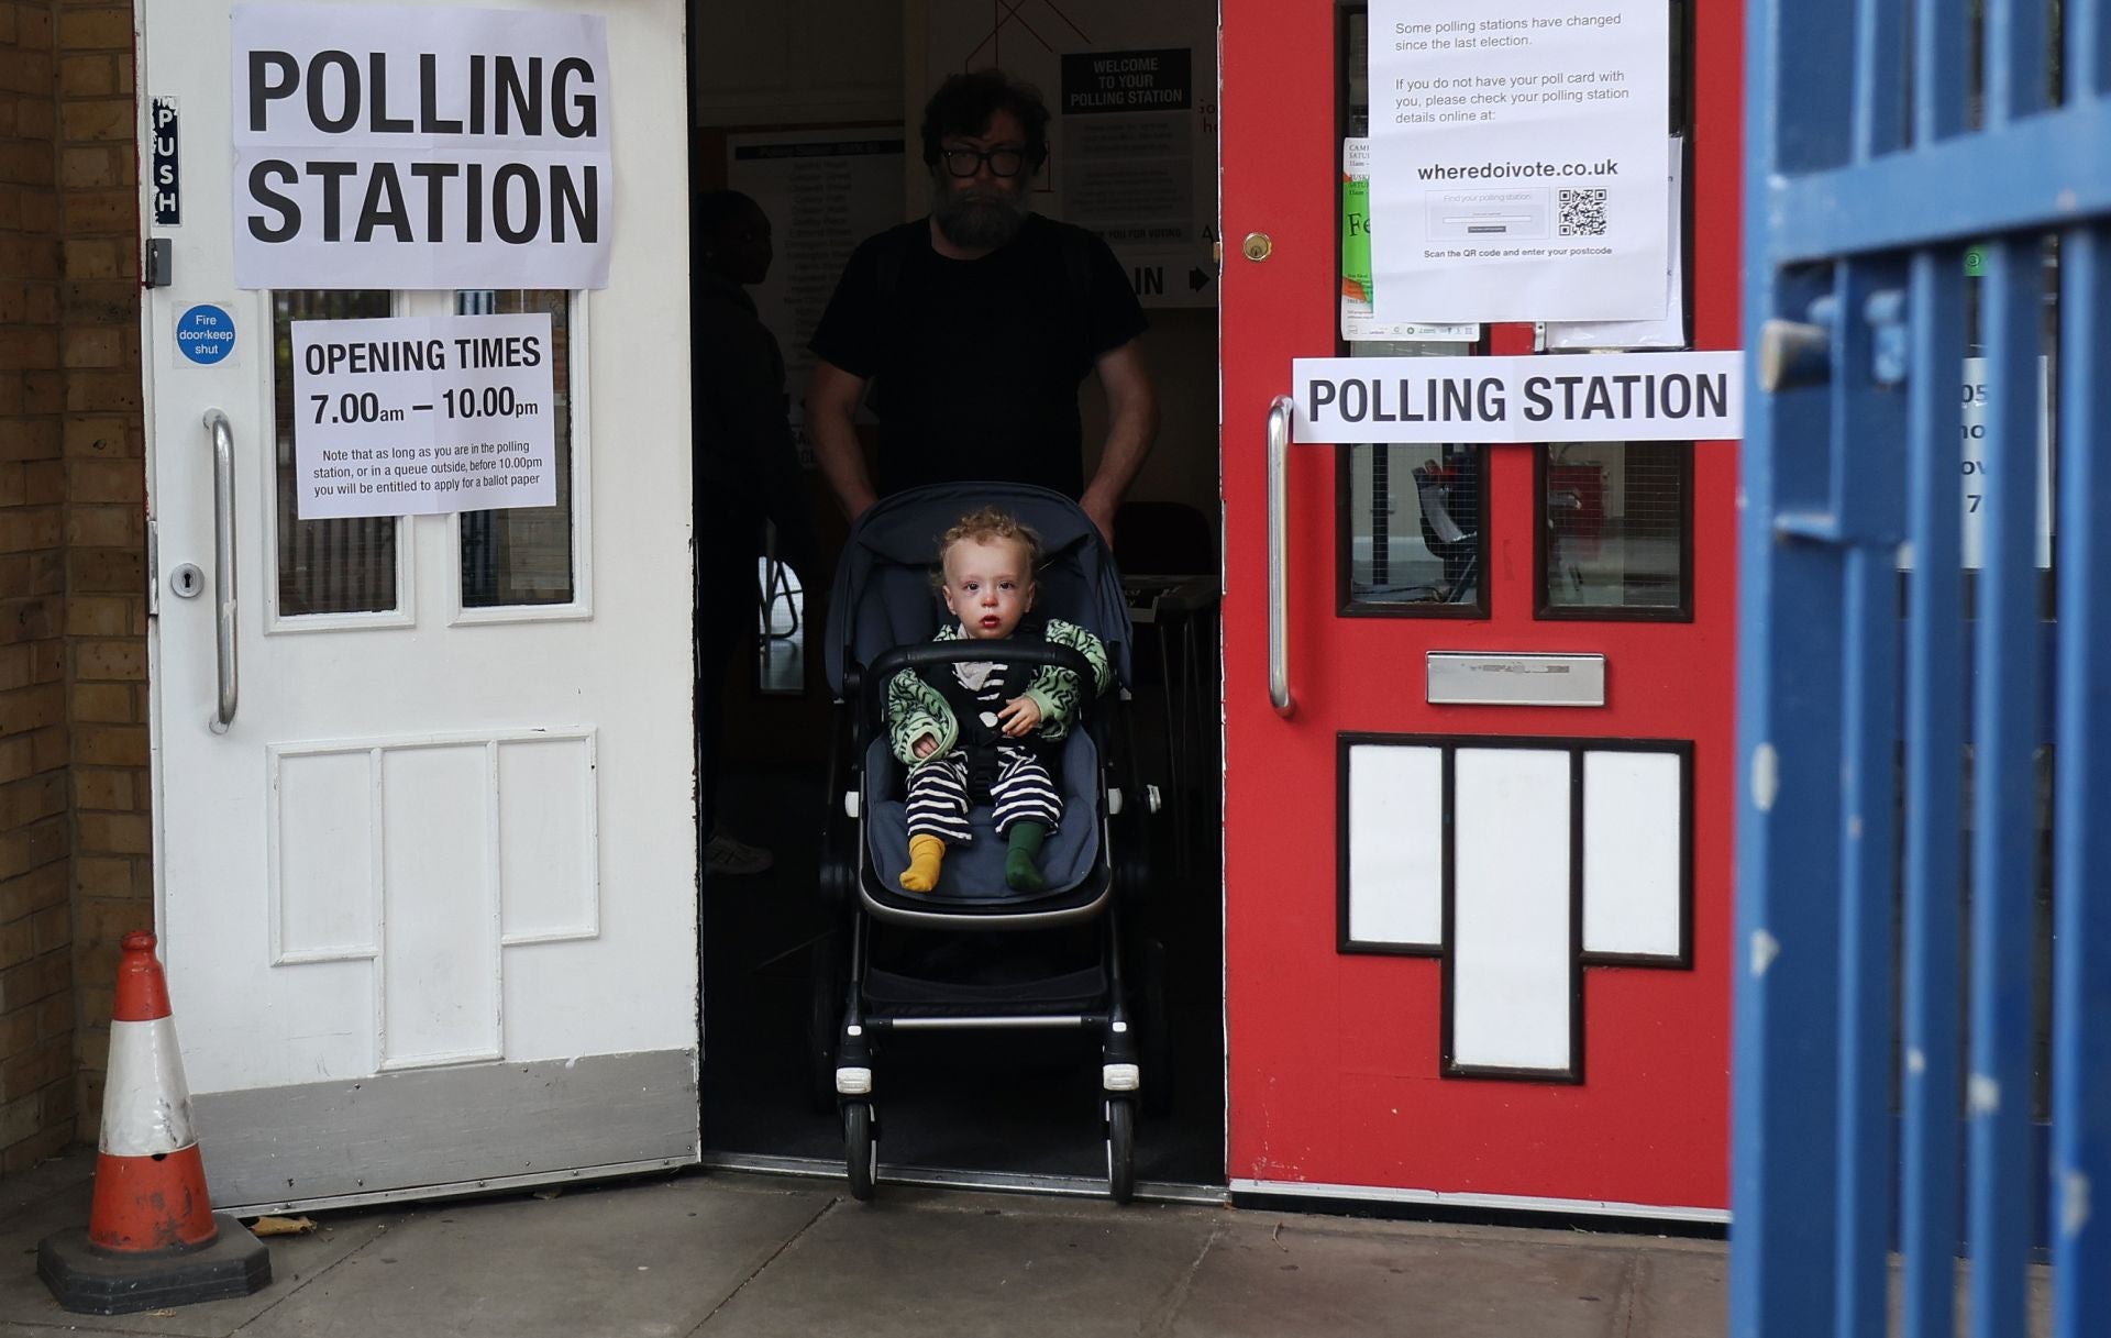
[[(990, 485), (986, 492), (992, 492), (992, 500), (999, 502), (1030, 494), (1026, 500), (1074, 509), (1074, 502), (1068, 498), (1034, 488)], [(912, 500), (914, 494), (901, 494), (901, 498)], [(1083, 519), (1081, 513), (1077, 515)], [(1089, 521), (1083, 523), (1089, 528)], [(1089, 532), (1087, 542), (1098, 544), (1098, 532)], [(840, 582), (838, 589), (842, 589)], [(874, 1072), (878, 1051), (889, 1034), (1096, 1032), (1100, 1038), (1100, 1104), (1108, 1194), (1117, 1203), (1127, 1203), (1136, 1192), (1134, 1157), (1140, 1102), (1148, 1093), (1153, 1108), (1157, 1108), (1159, 1100), (1169, 1095), (1161, 1083), (1144, 1087), (1146, 1068), (1157, 1070), (1161, 1076), (1169, 1070), (1169, 1066), (1157, 1064), (1163, 1055), (1163, 1017), (1150, 1017), (1153, 1026), (1140, 1026), (1142, 1019), (1131, 1005), (1131, 967), (1142, 967), (1146, 977), (1150, 977), (1157, 954), (1144, 948), (1146, 956), (1131, 960), (1129, 954), (1140, 950), (1140, 941), (1123, 924), (1125, 903), (1144, 884), (1142, 850), (1146, 834), (1142, 827), (1148, 808), (1144, 802), (1123, 804), (1123, 789), (1127, 789), (1127, 798), (1131, 800), (1142, 800), (1148, 791), (1138, 783), (1138, 777), (1125, 772), (1127, 787), (1108, 785), (1110, 772), (1121, 770), (1119, 762), (1125, 762), (1127, 770), (1134, 770), (1136, 760), (1134, 739), (1125, 737), (1123, 756), (1117, 762), (1115, 739), (1108, 728), (1108, 715), (1119, 715), (1121, 724), (1129, 726), (1125, 715), (1129, 703), (1127, 688), (1115, 686), (1104, 696), (1085, 694), (1079, 720), (1074, 722), (1077, 730), (1091, 734), (1098, 749), (1093, 777), (1098, 808), (1091, 815), (1098, 823), (1098, 848), (1091, 867), (1077, 886), (986, 903), (925, 901), (923, 897), (899, 893), (887, 882), (887, 872), (874, 867), (866, 840), (863, 821), (876, 813), (880, 798), (874, 794), (878, 781), (866, 766), (866, 758), (872, 749), (874, 726), (880, 720), (880, 701), (887, 682), (904, 669), (980, 658), (990, 658), (990, 650), (977, 642), (895, 646), (872, 656), (870, 665), (857, 665), (855, 656), (844, 652), (838, 705), (849, 707), (849, 728), (834, 732), (828, 766), (828, 794), (840, 796), (842, 808), (836, 810), (832, 806), (828, 832), (823, 834), (821, 878), (823, 897), (828, 897), (836, 912), (849, 916), (849, 924), (844, 926), (847, 933), (840, 935), (840, 943), (847, 945), (844, 950), (817, 952), (813, 958), (815, 1011), (811, 1017), (809, 1087), (817, 1102), (834, 1100), (842, 1123), (851, 1194), (855, 1199), (870, 1199), (876, 1184), (876, 1144), (880, 1135), (876, 1108), (878, 1083)], [(1081, 682), (1091, 682), (1089, 663), (1068, 646), (1018, 642), (1007, 644), (1003, 658), (1015, 665), (1058, 665), (1077, 673)], [(1087, 815), (1066, 815), (1066, 821), (1083, 817)], [(1117, 834), (1123, 838), (1119, 844)], [(1119, 859), (1117, 850), (1121, 853)], [(948, 988), (946, 983), (895, 977), (874, 967), (872, 939), (876, 924), (895, 924), (910, 931), (994, 931), (990, 939), (994, 943), (1003, 939), (1003, 931), (1034, 931), (1091, 920), (1098, 922), (1096, 939), (1100, 952), (1098, 962), (1091, 967), (1098, 973), (1093, 981), (1098, 988), (1091, 990), (1079, 988), (1081, 977), (1087, 975), (1081, 971), (1049, 977), (1047, 981), (1024, 981), (1024, 992), (1011, 992), (1003, 998), (996, 996), (999, 992), (977, 990), (975, 986), (958, 986), (961, 994), (946, 998), (942, 996)], [(834, 935), (823, 937), (823, 943), (834, 941), (838, 941)], [(899, 992), (876, 990), (876, 977), (893, 983), (931, 986), (935, 994), (933, 998), (906, 1000)], [(1051, 994), (1034, 998), (1030, 990), (1037, 983), (1049, 986)], [(1068, 994), (1064, 994), (1066, 986), (1070, 988)], [(1146, 1005), (1150, 1005), (1146, 1011), (1163, 1015), (1163, 1007), (1157, 1005), (1159, 981), (1146, 979)], [(1146, 1043), (1150, 1045), (1146, 1047)], [(1144, 1064), (1146, 1049), (1155, 1059), (1153, 1064)]]

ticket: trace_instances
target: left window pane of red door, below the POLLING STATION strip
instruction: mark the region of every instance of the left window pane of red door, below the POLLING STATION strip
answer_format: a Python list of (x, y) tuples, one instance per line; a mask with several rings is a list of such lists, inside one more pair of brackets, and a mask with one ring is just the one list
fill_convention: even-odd
[(1349, 447), (1351, 612), (1427, 606), (1484, 614), (1486, 509), (1476, 445)]

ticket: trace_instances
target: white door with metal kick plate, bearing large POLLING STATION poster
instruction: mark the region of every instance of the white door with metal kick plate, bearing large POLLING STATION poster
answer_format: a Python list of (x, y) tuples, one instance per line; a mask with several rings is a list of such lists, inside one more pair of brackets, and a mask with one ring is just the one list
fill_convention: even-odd
[(566, 8), (139, 11), (156, 929), (226, 1209), (697, 1157), (682, 13)]

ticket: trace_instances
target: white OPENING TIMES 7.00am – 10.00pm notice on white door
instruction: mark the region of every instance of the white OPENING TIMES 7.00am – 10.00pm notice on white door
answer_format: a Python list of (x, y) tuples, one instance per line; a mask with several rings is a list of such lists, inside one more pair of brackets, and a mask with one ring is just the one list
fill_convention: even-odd
[(300, 519), (551, 506), (549, 312), (293, 321)]

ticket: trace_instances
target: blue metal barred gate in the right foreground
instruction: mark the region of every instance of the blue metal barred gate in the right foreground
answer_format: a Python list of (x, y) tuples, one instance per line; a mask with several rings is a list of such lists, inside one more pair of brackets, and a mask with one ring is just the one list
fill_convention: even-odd
[(1748, 4), (1731, 1332), (2103, 1338), (2111, 0)]

